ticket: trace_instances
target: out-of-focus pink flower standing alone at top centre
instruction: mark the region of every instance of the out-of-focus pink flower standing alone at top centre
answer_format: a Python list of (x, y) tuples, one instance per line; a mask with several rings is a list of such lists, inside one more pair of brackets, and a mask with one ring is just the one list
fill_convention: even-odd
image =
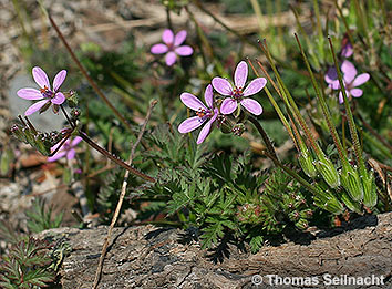
[(166, 64), (172, 66), (179, 56), (189, 56), (194, 50), (188, 45), (180, 45), (186, 39), (186, 31), (182, 30), (176, 35), (169, 29), (165, 29), (162, 34), (164, 43), (155, 44), (151, 48), (151, 53), (163, 54), (166, 53)]

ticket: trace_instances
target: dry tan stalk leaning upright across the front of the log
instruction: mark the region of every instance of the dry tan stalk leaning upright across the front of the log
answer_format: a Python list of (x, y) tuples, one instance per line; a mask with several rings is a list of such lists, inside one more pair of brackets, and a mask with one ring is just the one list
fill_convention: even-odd
[[(143, 137), (143, 134), (146, 130), (146, 126), (147, 126), (147, 123), (149, 121), (149, 117), (151, 117), (151, 113), (155, 106), (155, 104), (157, 103), (157, 101), (152, 101), (151, 104), (149, 104), (149, 107), (148, 107), (148, 111), (147, 111), (147, 115), (144, 120), (144, 123), (142, 125), (142, 130), (141, 132), (138, 133), (137, 135), (137, 140), (136, 142), (133, 144), (132, 146), (132, 149), (131, 149), (131, 154), (130, 154), (130, 158), (127, 161), (127, 165), (130, 166), (132, 164), (132, 161), (134, 158), (134, 155), (135, 155), (135, 151), (136, 151), (136, 147), (138, 145), (138, 143), (142, 141), (142, 137)], [(123, 185), (122, 185), (122, 188), (121, 188), (121, 194), (120, 194), (120, 198), (118, 198), (118, 203), (117, 203), (117, 206), (115, 208), (115, 211), (114, 211), (114, 215), (113, 215), (113, 218), (112, 218), (112, 223), (111, 223), (111, 226), (109, 227), (109, 230), (107, 230), (107, 236), (106, 236), (106, 239), (105, 239), (105, 242), (103, 244), (103, 247), (102, 247), (102, 251), (101, 251), (101, 257), (100, 257), (100, 261), (99, 261), (99, 266), (96, 268), (96, 272), (95, 272), (95, 278), (94, 278), (94, 285), (93, 285), (93, 289), (95, 289), (97, 287), (97, 285), (100, 283), (100, 280), (101, 280), (101, 273), (102, 273), (102, 268), (103, 268), (103, 261), (105, 259), (105, 256), (106, 256), (106, 250), (107, 250), (107, 246), (109, 246), (109, 242), (111, 240), (111, 237), (112, 237), (112, 233), (113, 233), (113, 228), (114, 228), (114, 225), (116, 224), (117, 221), (117, 218), (118, 218), (118, 215), (120, 215), (120, 210), (121, 210), (121, 207), (123, 205), (123, 200), (124, 200), (124, 197), (125, 197), (125, 193), (126, 193), (126, 187), (127, 187), (127, 178), (130, 176), (130, 171), (126, 171), (125, 172), (125, 175), (124, 175), (124, 180), (123, 180)]]

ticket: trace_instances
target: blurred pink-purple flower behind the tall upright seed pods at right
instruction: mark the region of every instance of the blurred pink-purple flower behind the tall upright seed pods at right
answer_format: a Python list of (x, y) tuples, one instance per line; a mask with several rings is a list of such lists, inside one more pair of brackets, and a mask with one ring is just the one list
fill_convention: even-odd
[[(360, 97), (363, 94), (363, 91), (357, 89), (357, 86), (362, 85), (367, 81), (369, 81), (370, 75), (369, 73), (362, 73), (357, 76), (357, 69), (354, 64), (350, 61), (344, 60), (341, 65), (341, 71), (343, 72), (343, 83), (345, 89), (347, 97)], [(329, 72), (326, 74), (326, 81), (329, 83), (329, 86), (332, 90), (340, 90), (340, 83), (338, 80), (338, 74), (334, 69), (329, 69)], [(339, 103), (343, 103), (343, 93), (339, 92)]]

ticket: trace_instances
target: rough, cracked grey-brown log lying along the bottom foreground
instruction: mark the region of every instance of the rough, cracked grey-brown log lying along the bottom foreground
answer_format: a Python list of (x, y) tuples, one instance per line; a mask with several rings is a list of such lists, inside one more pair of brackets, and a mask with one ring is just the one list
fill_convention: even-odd
[[(106, 233), (107, 227), (99, 227), (40, 234), (54, 239), (66, 236), (72, 247), (61, 269), (63, 288), (92, 287)], [(149, 225), (115, 228), (113, 236), (99, 288), (256, 288), (254, 275), (265, 279), (258, 288), (272, 288), (266, 285), (266, 275), (316, 277), (318, 287), (323, 288), (326, 273), (339, 278), (383, 276), (385, 285), (371, 288), (392, 286), (392, 213), (362, 217), (345, 228), (313, 234), (302, 244), (297, 240), (265, 246), (256, 255), (230, 247), (229, 258), (217, 264), (208, 257), (210, 251), (202, 250), (197, 242), (184, 245), (184, 233), (178, 229)]]

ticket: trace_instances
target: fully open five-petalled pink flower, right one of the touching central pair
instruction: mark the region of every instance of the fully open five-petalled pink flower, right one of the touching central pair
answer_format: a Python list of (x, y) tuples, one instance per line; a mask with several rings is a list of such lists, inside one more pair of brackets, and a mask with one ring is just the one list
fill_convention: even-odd
[(267, 80), (265, 78), (258, 78), (252, 80), (247, 87), (245, 83), (248, 78), (248, 64), (245, 61), (238, 63), (236, 71), (234, 72), (234, 87), (231, 83), (223, 78), (214, 78), (212, 83), (214, 89), (226, 97), (220, 106), (220, 112), (223, 114), (230, 114), (233, 113), (238, 103), (240, 103), (248, 112), (260, 115), (262, 113), (261, 105), (252, 100), (248, 99), (247, 96), (254, 95), (262, 90), (266, 86)]

